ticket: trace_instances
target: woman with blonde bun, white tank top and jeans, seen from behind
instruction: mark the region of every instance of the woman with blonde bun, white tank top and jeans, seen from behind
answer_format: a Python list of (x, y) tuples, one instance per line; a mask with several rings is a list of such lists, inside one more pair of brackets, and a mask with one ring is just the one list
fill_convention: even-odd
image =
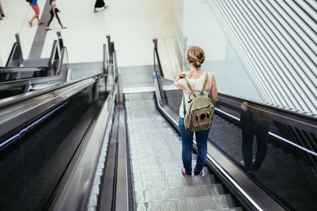
[[(183, 97), (188, 99), (190, 95), (189, 90), (203, 90), (203, 83), (207, 80), (204, 96), (208, 97), (211, 94), (211, 101), (213, 105), (216, 105), (218, 101), (218, 93), (217, 93), (217, 85), (215, 76), (212, 73), (206, 74), (201, 69), (203, 62), (205, 61), (205, 52), (203, 49), (197, 46), (193, 46), (186, 51), (186, 59), (187, 63), (190, 67), (189, 71), (181, 72), (174, 80), (174, 85), (183, 91)], [(209, 75), (209, 76), (208, 76)], [(186, 81), (184, 77), (187, 77), (189, 80), (188, 87), (186, 85)], [(189, 102), (186, 100), (182, 100), (181, 105), (179, 107), (179, 118), (178, 118), (178, 127), (182, 138), (182, 173), (185, 177), (191, 177), (191, 151), (193, 144), (193, 134), (195, 133), (196, 143), (197, 143), (197, 159), (196, 165), (194, 167), (194, 176), (202, 175), (202, 170), (205, 165), (207, 159), (207, 140), (210, 131), (210, 127), (208, 130), (203, 131), (186, 131), (184, 126), (184, 106), (183, 102), (185, 102), (185, 109), (188, 109)]]

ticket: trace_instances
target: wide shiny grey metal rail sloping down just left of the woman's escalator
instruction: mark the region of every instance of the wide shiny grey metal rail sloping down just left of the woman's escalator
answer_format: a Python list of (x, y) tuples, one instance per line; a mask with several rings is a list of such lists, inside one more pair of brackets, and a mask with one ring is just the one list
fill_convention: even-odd
[(105, 130), (109, 123), (112, 106), (115, 103), (116, 93), (117, 86), (115, 84), (103, 104), (97, 120), (92, 125), (93, 129), (91, 133), (85, 137), (85, 140), (87, 140), (85, 146), (81, 150), (78, 150), (80, 152), (76, 154), (75, 161), (72, 164), (74, 167), (68, 173), (67, 181), (64, 181), (64, 184), (62, 184), (62, 190), (55, 197), (56, 200), (53, 201), (49, 209), (50, 211), (86, 210)]

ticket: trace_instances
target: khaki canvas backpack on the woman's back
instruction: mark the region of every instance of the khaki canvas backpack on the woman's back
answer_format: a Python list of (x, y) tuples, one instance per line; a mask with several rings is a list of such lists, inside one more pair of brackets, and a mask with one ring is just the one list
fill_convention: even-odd
[[(209, 97), (204, 96), (204, 91), (206, 84), (209, 78), (209, 74), (206, 73), (206, 79), (203, 86), (203, 90), (192, 91), (190, 88), (190, 83), (185, 77), (186, 84), (190, 89), (191, 93), (189, 94), (189, 105), (188, 110), (186, 111), (185, 107), (185, 97), (183, 94), (183, 107), (184, 107), (184, 125), (187, 131), (203, 131), (208, 130), (211, 125), (211, 121), (214, 116), (215, 107), (211, 102)], [(196, 96), (194, 92), (200, 92), (200, 96)], [(194, 98), (190, 99), (190, 96), (193, 95)]]

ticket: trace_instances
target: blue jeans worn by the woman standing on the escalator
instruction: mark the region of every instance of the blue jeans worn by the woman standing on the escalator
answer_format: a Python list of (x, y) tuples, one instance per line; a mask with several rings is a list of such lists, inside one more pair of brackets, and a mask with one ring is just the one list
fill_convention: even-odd
[[(192, 140), (194, 132), (186, 131), (184, 126), (184, 118), (178, 118), (178, 128), (182, 137), (182, 160), (186, 174), (191, 175), (191, 151), (192, 151)], [(194, 168), (194, 174), (198, 175), (205, 165), (207, 159), (207, 140), (210, 128), (206, 131), (195, 132), (196, 143), (198, 148), (196, 166)]]

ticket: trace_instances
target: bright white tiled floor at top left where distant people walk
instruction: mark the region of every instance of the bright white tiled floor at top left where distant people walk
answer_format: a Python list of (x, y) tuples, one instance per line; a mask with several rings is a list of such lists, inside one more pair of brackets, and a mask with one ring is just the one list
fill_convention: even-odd
[[(0, 55), (5, 64), (17, 32), (23, 56), (28, 57), (37, 24), (34, 22), (33, 27), (29, 27), (27, 20), (34, 12), (25, 0), (0, 1), (6, 15), (0, 21)], [(42, 14), (46, 1), (38, 0), (38, 4)], [(59, 13), (61, 22), (68, 27), (61, 33), (70, 63), (101, 61), (102, 44), (106, 43), (105, 35), (110, 33), (119, 67), (153, 64), (153, 37), (159, 39), (159, 50), (168, 52), (168, 56), (162, 56), (162, 64), (174, 66), (170, 64), (175, 58), (174, 1), (109, 0), (106, 1), (109, 7), (98, 13), (93, 13), (94, 4), (92, 0), (56, 1), (62, 11)], [(53, 40), (57, 39), (56, 31), (60, 30), (56, 19), (50, 27), (53, 30), (47, 33), (42, 58), (49, 57)]]

